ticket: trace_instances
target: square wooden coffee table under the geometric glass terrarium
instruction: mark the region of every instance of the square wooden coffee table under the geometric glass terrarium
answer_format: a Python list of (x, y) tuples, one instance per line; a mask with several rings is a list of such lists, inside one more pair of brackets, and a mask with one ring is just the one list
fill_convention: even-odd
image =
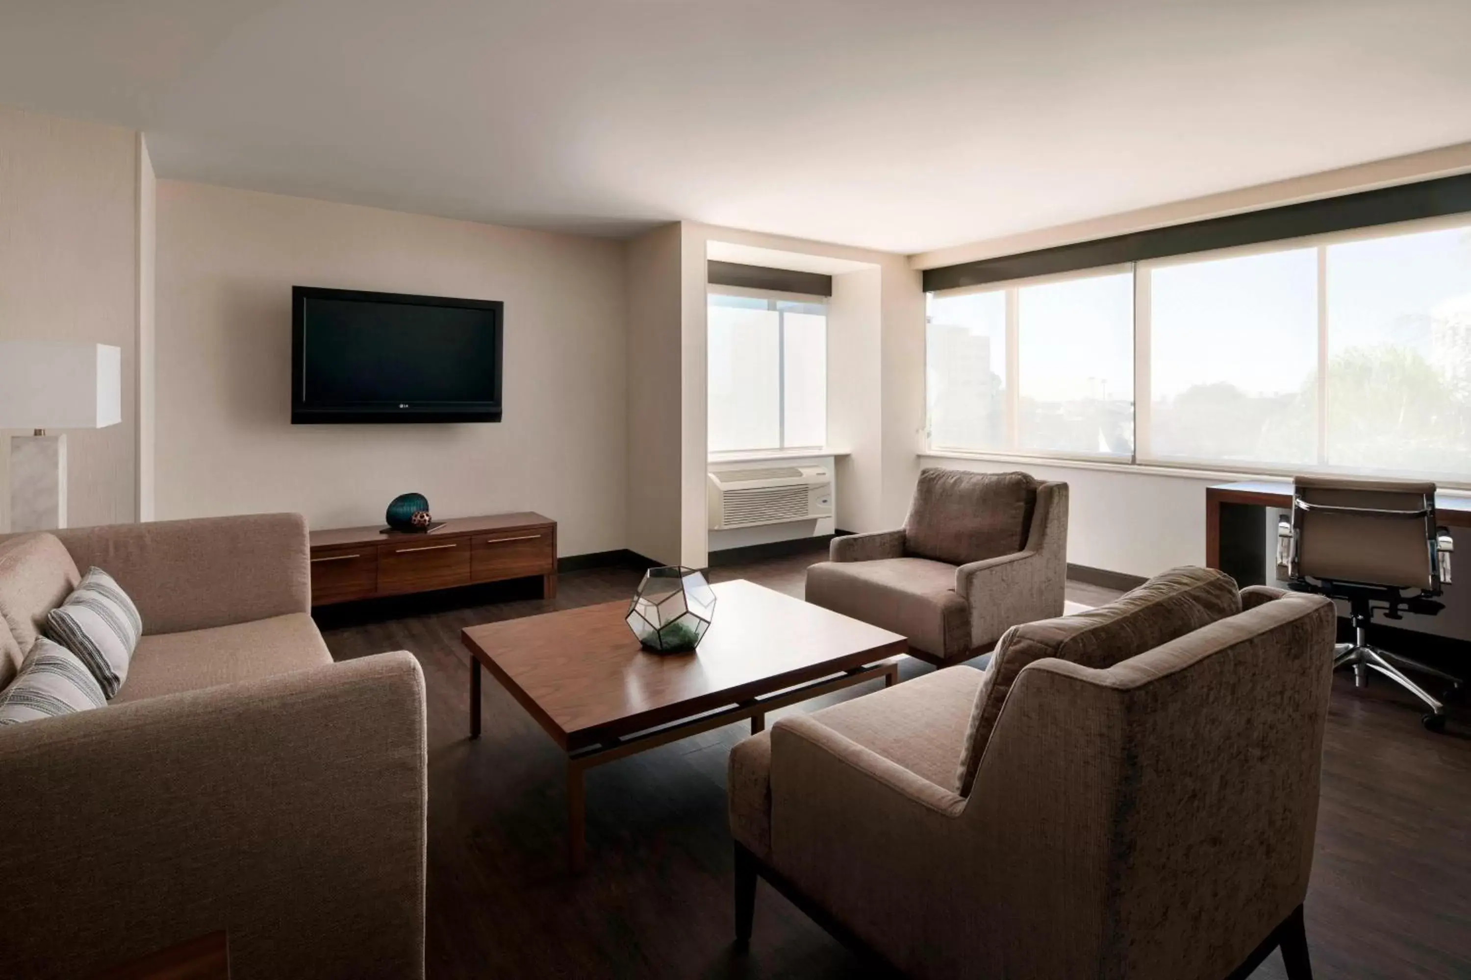
[(480, 738), (480, 669), (515, 695), (566, 752), (568, 860), (581, 871), (583, 773), (658, 745), (875, 677), (899, 680), (899, 633), (753, 582), (721, 582), (699, 651), (650, 654), (603, 602), (471, 626), (469, 735)]

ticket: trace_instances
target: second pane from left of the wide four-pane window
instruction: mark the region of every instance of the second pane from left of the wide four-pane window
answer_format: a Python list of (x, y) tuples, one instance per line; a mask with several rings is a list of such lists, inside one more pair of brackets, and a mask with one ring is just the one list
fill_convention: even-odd
[(1134, 276), (1016, 289), (1022, 450), (1134, 453)]

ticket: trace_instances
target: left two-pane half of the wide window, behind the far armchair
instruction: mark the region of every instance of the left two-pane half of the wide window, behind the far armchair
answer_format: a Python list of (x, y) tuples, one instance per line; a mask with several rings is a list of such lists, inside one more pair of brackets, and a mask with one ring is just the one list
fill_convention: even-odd
[(1118, 272), (931, 294), (931, 445), (1127, 458), (1133, 291)]

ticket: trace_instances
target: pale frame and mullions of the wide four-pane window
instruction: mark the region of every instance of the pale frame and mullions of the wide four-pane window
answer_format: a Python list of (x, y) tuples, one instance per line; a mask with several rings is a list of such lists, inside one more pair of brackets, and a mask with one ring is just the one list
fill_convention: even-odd
[[(1414, 470), (1367, 470), (1356, 466), (1334, 466), (1328, 463), (1328, 351), (1330, 351), (1330, 336), (1328, 336), (1328, 248), (1340, 244), (1352, 244), (1362, 241), (1374, 241), (1378, 238), (1397, 238), (1405, 235), (1415, 235), (1422, 232), (1434, 231), (1449, 231), (1455, 228), (1464, 228), (1471, 234), (1471, 212), (1461, 212), (1453, 215), (1439, 215), (1434, 217), (1415, 217), (1402, 222), (1392, 222), (1383, 225), (1371, 225), (1365, 228), (1352, 228), (1344, 231), (1319, 232), (1311, 235), (1299, 235), (1293, 238), (1278, 238), (1272, 241), (1252, 242), (1247, 245), (1234, 245), (1228, 248), (1209, 248), (1203, 251), (1181, 253), (1174, 256), (1164, 256), (1159, 259), (1141, 259), (1137, 262), (1114, 263), (1108, 266), (1096, 266), (1089, 269), (1077, 269), (1069, 272), (1058, 272), (1040, 276), (1027, 276), (1021, 279), (1008, 279), (1005, 282), (989, 282), (984, 285), (972, 287), (958, 287), (953, 289), (931, 289), (925, 292), (925, 301), (928, 306), (930, 297), (941, 295), (966, 295), (977, 292), (1006, 292), (1006, 430), (1008, 430), (1008, 447), (999, 450), (968, 450), (956, 447), (937, 447), (930, 439), (930, 338), (928, 338), (928, 313), (925, 316), (925, 425), (924, 425), (924, 453), (922, 455), (931, 457), (953, 457), (953, 458), (990, 458), (999, 461), (1034, 461), (1034, 463), (1050, 463), (1050, 464), (1074, 464), (1086, 466), (1089, 469), (1108, 469), (1108, 470), (1122, 470), (1122, 472), (1153, 472), (1153, 473), (1178, 473), (1186, 476), (1199, 475), (1202, 479), (1211, 478), (1247, 478), (1247, 476), (1262, 476), (1262, 478), (1292, 478), (1297, 473), (1324, 473), (1324, 475), (1367, 475), (1381, 479), (1434, 479), (1437, 486), (1446, 489), (1471, 491), (1471, 473), (1458, 476), (1447, 473), (1428, 473), (1428, 472), (1414, 472)], [(1152, 354), (1152, 309), (1150, 309), (1150, 275), (1156, 269), (1164, 269), (1169, 266), (1193, 264), (1199, 262), (1214, 262), (1218, 259), (1239, 259), (1247, 256), (1261, 256), (1277, 251), (1293, 251), (1300, 248), (1315, 248), (1317, 250), (1317, 316), (1318, 316), (1318, 367), (1315, 378), (1315, 403), (1317, 403), (1317, 419), (1315, 419), (1315, 454), (1314, 463), (1305, 466), (1280, 466), (1272, 463), (1256, 463), (1246, 460), (1211, 460), (1211, 458), (1184, 458), (1184, 457), (1158, 457), (1150, 454), (1149, 423), (1152, 420), (1153, 408), (1153, 364), (1150, 361)], [(1016, 410), (1019, 403), (1019, 370), (1018, 370), (1018, 339), (1019, 339), (1019, 322), (1018, 322), (1018, 304), (1015, 303), (1015, 294), (1018, 289), (1028, 285), (1040, 285), (1047, 282), (1059, 282), (1066, 279), (1081, 279), (1103, 275), (1116, 275), (1119, 272), (1130, 272), (1133, 275), (1134, 285), (1134, 325), (1133, 325), (1133, 339), (1134, 339), (1134, 447), (1133, 453), (1127, 457), (1122, 454), (1108, 454), (1108, 453), (1066, 453), (1066, 451), (1052, 451), (1052, 450), (1030, 450), (1018, 445), (1016, 439)]]

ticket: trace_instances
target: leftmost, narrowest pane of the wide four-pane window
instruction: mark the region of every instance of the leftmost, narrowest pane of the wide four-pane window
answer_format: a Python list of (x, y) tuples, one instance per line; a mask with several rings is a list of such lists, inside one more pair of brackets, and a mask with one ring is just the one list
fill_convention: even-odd
[(931, 294), (925, 344), (930, 444), (1008, 448), (1006, 294)]

